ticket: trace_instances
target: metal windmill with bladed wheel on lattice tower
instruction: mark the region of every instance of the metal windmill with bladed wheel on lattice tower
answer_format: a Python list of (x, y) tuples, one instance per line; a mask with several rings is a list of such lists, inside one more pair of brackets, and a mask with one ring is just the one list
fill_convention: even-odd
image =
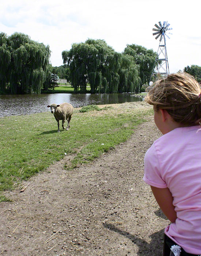
[(151, 79), (153, 76), (158, 77), (160, 75), (163, 76), (170, 73), (168, 59), (167, 59), (166, 37), (165, 37), (167, 36), (170, 39), (167, 33), (170, 34), (168, 31), (171, 30), (172, 28), (169, 28), (169, 26), (170, 24), (167, 23), (167, 21), (163, 22), (163, 26), (162, 26), (162, 23), (159, 21), (159, 26), (155, 24), (156, 28), (152, 29), (153, 31), (156, 31), (155, 33), (153, 33), (153, 36), (157, 35), (155, 39), (158, 39), (159, 37), (160, 39), (159, 39), (159, 48), (158, 48), (157, 56), (153, 65), (153, 71), (151, 74), (149, 84), (151, 83)]

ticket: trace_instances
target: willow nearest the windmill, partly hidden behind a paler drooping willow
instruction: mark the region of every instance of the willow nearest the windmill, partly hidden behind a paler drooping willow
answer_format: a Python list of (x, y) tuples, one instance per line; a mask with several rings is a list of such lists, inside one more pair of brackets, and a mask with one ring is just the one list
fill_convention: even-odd
[(139, 66), (139, 89), (141, 89), (142, 85), (149, 81), (151, 77), (157, 53), (141, 45), (131, 44), (127, 45), (123, 54), (132, 56), (134, 62)]

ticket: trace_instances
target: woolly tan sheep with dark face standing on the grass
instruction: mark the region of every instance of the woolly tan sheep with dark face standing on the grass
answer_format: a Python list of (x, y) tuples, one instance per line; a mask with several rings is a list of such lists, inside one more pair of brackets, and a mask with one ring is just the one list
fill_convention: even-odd
[(65, 129), (65, 127), (64, 127), (65, 120), (68, 121), (68, 125), (66, 128), (66, 130), (68, 131), (68, 129), (70, 128), (70, 121), (71, 121), (71, 117), (73, 114), (73, 106), (70, 103), (65, 102), (60, 105), (56, 105), (55, 103), (53, 103), (52, 105), (48, 105), (47, 107), (50, 107), (50, 111), (52, 114), (54, 114), (54, 117), (57, 121), (57, 124), (58, 124), (57, 132), (60, 132), (59, 120), (62, 120), (63, 129)]

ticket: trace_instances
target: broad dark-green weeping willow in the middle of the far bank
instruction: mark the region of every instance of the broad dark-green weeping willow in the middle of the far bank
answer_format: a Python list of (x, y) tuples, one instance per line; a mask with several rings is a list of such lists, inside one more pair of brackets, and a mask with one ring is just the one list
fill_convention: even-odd
[(79, 88), (85, 91), (87, 83), (91, 93), (118, 91), (121, 54), (104, 40), (88, 39), (85, 43), (72, 44), (71, 50), (62, 52), (62, 58), (69, 65), (75, 91)]

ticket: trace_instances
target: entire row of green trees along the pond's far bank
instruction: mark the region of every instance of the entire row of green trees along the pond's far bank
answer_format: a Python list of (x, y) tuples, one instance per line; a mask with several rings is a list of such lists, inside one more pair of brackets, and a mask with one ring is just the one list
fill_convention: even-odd
[[(122, 53), (104, 40), (88, 39), (62, 51), (64, 65), (49, 64), (49, 45), (38, 43), (23, 33), (0, 33), (0, 92), (41, 93), (51, 87), (51, 74), (67, 79), (75, 91), (91, 93), (139, 92), (148, 84), (157, 53), (141, 45), (126, 45)], [(201, 67), (184, 71), (201, 81)]]

